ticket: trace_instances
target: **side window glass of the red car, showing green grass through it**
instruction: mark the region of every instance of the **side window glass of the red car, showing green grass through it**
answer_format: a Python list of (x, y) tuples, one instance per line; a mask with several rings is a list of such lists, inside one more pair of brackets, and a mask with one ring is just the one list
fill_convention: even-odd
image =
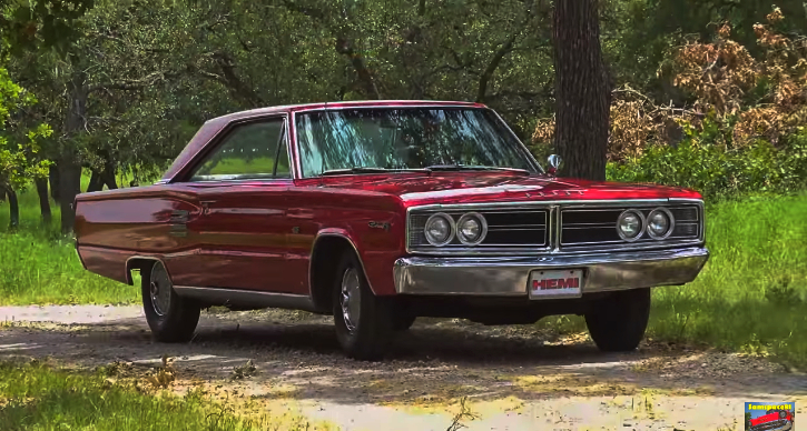
[(283, 119), (237, 126), (218, 143), (190, 181), (292, 178)]

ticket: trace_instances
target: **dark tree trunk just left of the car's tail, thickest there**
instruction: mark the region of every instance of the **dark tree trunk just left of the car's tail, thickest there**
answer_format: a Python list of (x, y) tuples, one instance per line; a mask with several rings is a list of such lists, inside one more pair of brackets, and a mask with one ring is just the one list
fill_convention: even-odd
[(65, 121), (67, 143), (57, 161), (59, 167), (59, 207), (61, 208), (61, 231), (69, 233), (76, 222), (73, 201), (81, 192), (81, 164), (72, 138), (83, 128), (87, 117), (87, 87), (83, 73), (77, 73), (71, 82), (70, 100)]

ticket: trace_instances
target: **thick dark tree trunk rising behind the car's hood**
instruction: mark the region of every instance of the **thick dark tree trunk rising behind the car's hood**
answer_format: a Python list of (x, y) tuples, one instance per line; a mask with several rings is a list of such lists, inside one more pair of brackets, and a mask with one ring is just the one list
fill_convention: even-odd
[(600, 49), (597, 0), (554, 8), (555, 151), (560, 174), (606, 179), (611, 92)]

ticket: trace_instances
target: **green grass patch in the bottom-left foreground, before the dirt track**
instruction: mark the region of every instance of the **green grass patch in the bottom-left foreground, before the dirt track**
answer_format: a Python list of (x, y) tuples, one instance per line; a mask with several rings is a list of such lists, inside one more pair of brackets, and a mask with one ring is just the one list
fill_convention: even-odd
[[(299, 417), (245, 419), (201, 391), (151, 395), (96, 373), (0, 363), (0, 430), (315, 430)], [(277, 428), (275, 428), (277, 427)], [(329, 429), (326, 427), (325, 429)]]

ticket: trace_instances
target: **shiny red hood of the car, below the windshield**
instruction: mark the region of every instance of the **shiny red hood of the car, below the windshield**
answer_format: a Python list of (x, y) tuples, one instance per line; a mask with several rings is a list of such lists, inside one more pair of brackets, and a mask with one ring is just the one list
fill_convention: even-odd
[(700, 194), (695, 191), (673, 187), (594, 182), (545, 176), (526, 177), (510, 172), (344, 176), (328, 178), (322, 187), (394, 194), (407, 206), (498, 201), (700, 199)]

